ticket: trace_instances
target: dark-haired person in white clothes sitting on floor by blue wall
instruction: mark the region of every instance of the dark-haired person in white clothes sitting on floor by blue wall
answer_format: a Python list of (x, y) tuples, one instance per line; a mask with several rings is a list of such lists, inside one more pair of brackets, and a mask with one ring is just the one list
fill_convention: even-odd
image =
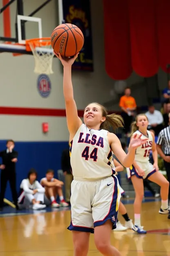
[(18, 207), (32, 208), (33, 210), (43, 209), (46, 207), (44, 202), (45, 189), (36, 180), (37, 172), (31, 168), (28, 178), (23, 179), (20, 184), (20, 196), (18, 197)]

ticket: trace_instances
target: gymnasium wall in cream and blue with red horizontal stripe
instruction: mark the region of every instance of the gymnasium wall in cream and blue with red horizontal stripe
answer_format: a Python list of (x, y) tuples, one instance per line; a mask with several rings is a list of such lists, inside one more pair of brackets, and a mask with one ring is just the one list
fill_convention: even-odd
[[(27, 16), (39, 5), (42, 0), (24, 0), (24, 12)], [(0, 7), (2, 0), (0, 0)], [(96, 9), (97, 7), (97, 9)], [(14, 37), (14, 23), (16, 15), (16, 2), (11, 5), (11, 31)], [(94, 72), (74, 71), (72, 75), (74, 96), (79, 110), (83, 110), (89, 102), (100, 103), (112, 100), (110, 94), (114, 81), (105, 72), (104, 41), (103, 41), (103, 6), (102, 0), (91, 1), (92, 11), (92, 37), (94, 54)], [(58, 25), (56, 1), (51, 1), (40, 10), (36, 17), (42, 18), (43, 36), (48, 37)], [(2, 24), (2, 14), (0, 15)], [(3, 34), (0, 25), (0, 34)], [(34, 23), (26, 23), (27, 39), (37, 37), (38, 27)], [(18, 151), (17, 187), (31, 167), (38, 171), (38, 177), (45, 176), (48, 168), (55, 170), (60, 166), (62, 150), (68, 146), (69, 134), (66, 126), (64, 98), (63, 98), (63, 72), (58, 59), (53, 62), (54, 74), (50, 75), (51, 94), (42, 98), (37, 90), (37, 77), (34, 74), (34, 57), (22, 55), (13, 57), (11, 53), (0, 54), (0, 150), (5, 148), (5, 141), (12, 138), (16, 141)], [(143, 78), (135, 73), (127, 80), (131, 85), (142, 81)], [(139, 96), (140, 95), (140, 96)], [(141, 88), (137, 98), (145, 93)], [(138, 99), (137, 99), (138, 102)], [(52, 113), (52, 114), (51, 114)], [(49, 133), (42, 133), (42, 123), (49, 123)], [(11, 199), (9, 187), (6, 197)]]

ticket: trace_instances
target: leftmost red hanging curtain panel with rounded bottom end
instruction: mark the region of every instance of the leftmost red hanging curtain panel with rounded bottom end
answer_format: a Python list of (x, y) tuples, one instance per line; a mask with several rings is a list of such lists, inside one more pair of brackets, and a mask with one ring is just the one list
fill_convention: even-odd
[(105, 69), (115, 80), (127, 79), (132, 73), (128, 0), (103, 0)]

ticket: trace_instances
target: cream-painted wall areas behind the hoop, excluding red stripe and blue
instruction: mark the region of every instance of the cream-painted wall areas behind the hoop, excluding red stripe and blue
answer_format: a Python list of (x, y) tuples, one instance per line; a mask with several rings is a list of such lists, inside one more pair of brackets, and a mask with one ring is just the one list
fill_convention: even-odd
[[(40, 4), (42, 4), (42, 0), (24, 1), (25, 15), (29, 15), (31, 11), (36, 9)], [(2, 6), (2, 0), (0, 0), (0, 6)], [(78, 109), (83, 109), (85, 105), (93, 101), (103, 103), (111, 100), (112, 96), (110, 95), (110, 90), (114, 85), (114, 81), (108, 77), (105, 72), (102, 0), (91, 1), (91, 11), (94, 72), (73, 72), (74, 96)], [(12, 36), (14, 36), (15, 15), (16, 2), (11, 5)], [(51, 1), (46, 7), (41, 9), (36, 14), (36, 17), (42, 18), (43, 37), (49, 37), (51, 31), (58, 25), (56, 1)], [(2, 14), (0, 15), (0, 24), (2, 24)], [(2, 34), (2, 25), (0, 25), (0, 34)], [(37, 37), (37, 34), (38, 30), (35, 24), (26, 23), (27, 38)], [(37, 75), (33, 72), (34, 57), (30, 55), (13, 57), (11, 53), (1, 53), (1, 106), (65, 108), (62, 89), (63, 73), (61, 65), (56, 58), (54, 59), (53, 70), (54, 74), (50, 75), (52, 91), (50, 96), (44, 99), (41, 98), (37, 91)], [(134, 82), (140, 82), (141, 80), (143, 80), (143, 78), (133, 73), (127, 80), (127, 83), (130, 85)], [(13, 137), (17, 140), (68, 140), (65, 121), (57, 121), (59, 119), (64, 120), (64, 118), (58, 118), (49, 118), (50, 126), (54, 127), (51, 128), (48, 137), (45, 137), (44, 135), (40, 135), (39, 130), (40, 123), (42, 120), (44, 121), (45, 118), (1, 116), (1, 120), (4, 124), (1, 126), (0, 139)], [(7, 124), (13, 123), (14, 119), (16, 120), (15, 128), (6, 129)], [(62, 126), (60, 130), (61, 133), (55, 133), (55, 127), (58, 128), (60, 125)], [(23, 130), (24, 133), (22, 133)], [(30, 135), (30, 133), (32, 133), (32, 135)]]

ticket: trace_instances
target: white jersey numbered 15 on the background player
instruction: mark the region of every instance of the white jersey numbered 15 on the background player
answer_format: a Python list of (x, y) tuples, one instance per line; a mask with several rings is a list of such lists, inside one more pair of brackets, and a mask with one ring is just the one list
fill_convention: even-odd
[[(136, 133), (138, 135), (141, 135), (141, 132), (139, 132), (139, 130), (137, 130), (135, 133), (133, 133), (133, 135)], [(149, 130), (147, 130), (147, 134), (148, 134), (148, 141), (136, 149), (134, 160), (137, 162), (148, 162), (149, 161), (150, 151), (152, 150), (153, 137)], [(146, 139), (146, 138), (147, 137), (145, 135), (141, 136), (141, 139)]]

